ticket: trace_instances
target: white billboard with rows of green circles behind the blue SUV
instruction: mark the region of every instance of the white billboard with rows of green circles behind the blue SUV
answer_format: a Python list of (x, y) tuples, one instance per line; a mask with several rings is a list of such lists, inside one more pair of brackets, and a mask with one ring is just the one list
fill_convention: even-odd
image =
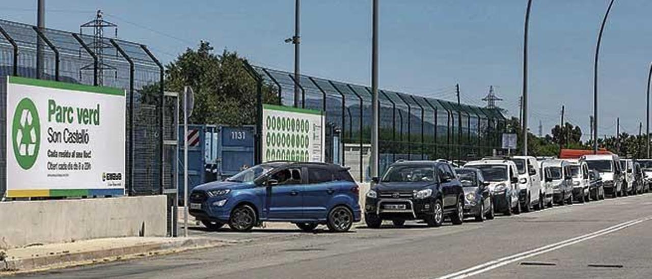
[(324, 121), (318, 110), (263, 105), (263, 162), (324, 162)]

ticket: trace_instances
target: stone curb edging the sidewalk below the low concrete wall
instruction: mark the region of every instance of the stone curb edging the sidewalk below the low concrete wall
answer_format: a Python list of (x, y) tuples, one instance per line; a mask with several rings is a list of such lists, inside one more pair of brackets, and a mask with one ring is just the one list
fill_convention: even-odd
[(207, 238), (170, 239), (170, 241), (137, 244), (102, 250), (91, 250), (85, 252), (67, 252), (59, 254), (48, 254), (44, 256), (35, 255), (24, 259), (5, 259), (0, 262), (0, 276), (24, 272), (45, 271), (48, 269), (60, 269), (64, 267), (76, 267), (93, 263), (106, 263), (121, 259), (132, 259), (137, 257), (158, 256), (188, 250), (211, 248), (234, 244), (237, 241), (224, 241)]

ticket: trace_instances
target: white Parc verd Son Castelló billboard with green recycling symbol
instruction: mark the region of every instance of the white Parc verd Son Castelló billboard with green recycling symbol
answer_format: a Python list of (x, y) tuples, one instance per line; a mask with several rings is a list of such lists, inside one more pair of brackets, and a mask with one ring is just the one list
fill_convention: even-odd
[(7, 78), (7, 197), (125, 194), (125, 91)]

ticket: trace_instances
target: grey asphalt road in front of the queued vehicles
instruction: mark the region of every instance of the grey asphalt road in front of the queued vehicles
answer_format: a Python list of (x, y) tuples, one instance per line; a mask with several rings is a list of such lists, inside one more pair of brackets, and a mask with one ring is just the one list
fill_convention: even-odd
[(652, 194), (441, 228), (194, 233), (241, 242), (26, 278), (652, 278)]

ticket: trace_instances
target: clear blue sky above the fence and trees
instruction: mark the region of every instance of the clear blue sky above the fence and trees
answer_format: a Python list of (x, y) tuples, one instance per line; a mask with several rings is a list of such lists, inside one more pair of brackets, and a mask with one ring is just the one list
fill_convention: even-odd
[[(303, 0), (304, 74), (370, 84), (371, 0)], [(35, 23), (36, 0), (3, 1), (0, 18)], [(489, 85), (518, 115), (526, 0), (381, 0), (381, 88), (482, 104)], [(530, 22), (531, 132), (544, 134), (567, 119), (589, 134), (593, 111), (593, 53), (608, 0), (534, 0)], [(119, 24), (119, 37), (151, 46), (170, 61), (207, 40), (250, 61), (293, 68), (292, 0), (46, 0), (46, 25), (78, 30), (101, 8)], [(652, 61), (652, 1), (617, 0), (600, 50), (599, 135), (645, 132), (645, 83)], [(585, 139), (587, 137), (584, 137)]]

